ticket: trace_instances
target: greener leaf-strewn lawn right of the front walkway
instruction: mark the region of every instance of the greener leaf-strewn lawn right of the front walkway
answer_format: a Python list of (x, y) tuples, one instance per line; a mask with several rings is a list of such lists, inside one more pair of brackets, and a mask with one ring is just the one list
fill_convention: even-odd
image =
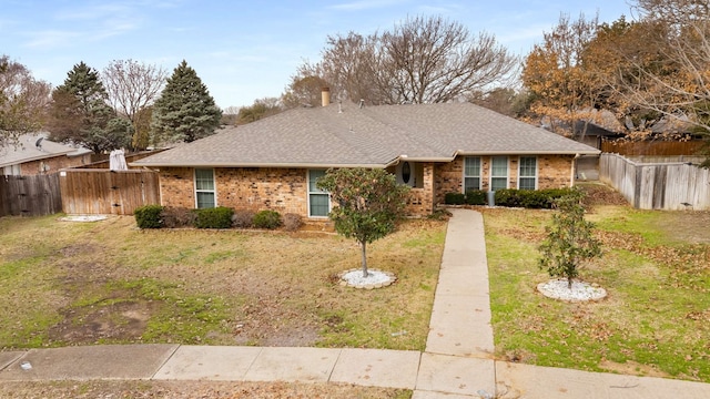
[(708, 245), (669, 237), (658, 219), (667, 214), (606, 207), (590, 215), (607, 237), (605, 256), (580, 276), (609, 296), (598, 303), (564, 303), (535, 290), (549, 279), (537, 267), (540, 237), (534, 235), (549, 213), (525, 212), (527, 226), (516, 212), (485, 214), (499, 357), (710, 381)]

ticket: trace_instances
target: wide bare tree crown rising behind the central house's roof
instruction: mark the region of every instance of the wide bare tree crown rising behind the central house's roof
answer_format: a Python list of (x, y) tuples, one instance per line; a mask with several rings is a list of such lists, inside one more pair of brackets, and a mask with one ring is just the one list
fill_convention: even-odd
[(374, 104), (435, 103), (466, 99), (509, 76), (517, 59), (495, 37), (474, 37), (442, 17), (417, 17), (367, 37), (328, 37), (316, 64), (294, 82), (318, 76), (336, 98)]

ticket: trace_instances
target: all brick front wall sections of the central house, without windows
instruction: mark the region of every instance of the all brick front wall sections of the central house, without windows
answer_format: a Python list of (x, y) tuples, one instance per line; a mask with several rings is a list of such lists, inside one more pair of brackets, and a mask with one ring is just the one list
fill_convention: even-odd
[[(518, 156), (508, 157), (509, 187), (517, 187)], [(490, 156), (481, 156), (481, 188), (488, 190)], [(568, 187), (572, 155), (540, 155), (538, 188)], [(422, 163), (423, 185), (412, 188), (406, 212), (412, 216), (430, 214), (444, 203), (446, 193), (460, 192), (464, 157), (449, 163)], [(234, 209), (273, 209), (281, 214), (308, 215), (308, 184), (305, 168), (231, 167), (215, 168), (216, 203)], [(194, 170), (165, 167), (160, 171), (161, 201), (165, 206), (195, 207)]]

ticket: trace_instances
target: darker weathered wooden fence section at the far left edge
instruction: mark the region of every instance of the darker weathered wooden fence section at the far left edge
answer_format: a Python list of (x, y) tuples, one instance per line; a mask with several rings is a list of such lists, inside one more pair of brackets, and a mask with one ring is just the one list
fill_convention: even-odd
[(61, 212), (59, 176), (0, 176), (0, 216), (39, 216)]

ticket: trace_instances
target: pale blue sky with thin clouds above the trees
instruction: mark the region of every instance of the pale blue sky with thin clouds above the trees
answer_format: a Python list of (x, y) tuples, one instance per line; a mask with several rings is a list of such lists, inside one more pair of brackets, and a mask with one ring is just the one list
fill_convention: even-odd
[(328, 34), (389, 30), (415, 16), (443, 16), (526, 54), (560, 12), (631, 16), (626, 0), (0, 0), (0, 53), (61, 84), (84, 61), (101, 71), (133, 59), (172, 70), (184, 59), (221, 108), (278, 96)]

